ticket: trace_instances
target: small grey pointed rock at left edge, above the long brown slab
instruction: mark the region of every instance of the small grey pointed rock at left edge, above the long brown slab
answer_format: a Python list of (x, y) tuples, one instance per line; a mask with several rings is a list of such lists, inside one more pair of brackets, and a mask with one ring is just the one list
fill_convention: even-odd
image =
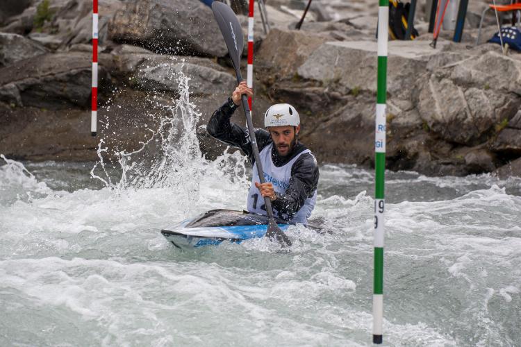
[(47, 53), (44, 46), (22, 35), (0, 33), (0, 67), (44, 53)]

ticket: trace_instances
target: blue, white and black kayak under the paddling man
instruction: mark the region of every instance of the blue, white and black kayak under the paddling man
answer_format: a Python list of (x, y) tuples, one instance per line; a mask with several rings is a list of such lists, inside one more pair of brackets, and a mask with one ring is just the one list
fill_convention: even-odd
[[(286, 231), (291, 224), (276, 220)], [(234, 210), (210, 210), (186, 219), (161, 234), (177, 248), (197, 248), (222, 242), (242, 242), (245, 239), (263, 237), (268, 219), (262, 214)]]

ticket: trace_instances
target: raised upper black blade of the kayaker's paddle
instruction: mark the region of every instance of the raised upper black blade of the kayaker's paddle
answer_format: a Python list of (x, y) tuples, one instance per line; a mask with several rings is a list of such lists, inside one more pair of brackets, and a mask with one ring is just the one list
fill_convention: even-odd
[(226, 3), (213, 1), (212, 10), (217, 25), (221, 29), (224, 42), (226, 42), (226, 47), (228, 47), (233, 67), (240, 69), (240, 55), (244, 47), (244, 37), (242, 37), (239, 19)]

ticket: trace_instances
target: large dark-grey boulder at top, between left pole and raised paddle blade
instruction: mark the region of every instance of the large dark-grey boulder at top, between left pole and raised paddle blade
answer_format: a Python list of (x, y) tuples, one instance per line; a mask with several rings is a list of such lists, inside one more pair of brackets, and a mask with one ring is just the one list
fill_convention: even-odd
[(212, 10), (201, 1), (130, 1), (110, 20), (108, 35), (159, 53), (222, 57), (228, 52)]

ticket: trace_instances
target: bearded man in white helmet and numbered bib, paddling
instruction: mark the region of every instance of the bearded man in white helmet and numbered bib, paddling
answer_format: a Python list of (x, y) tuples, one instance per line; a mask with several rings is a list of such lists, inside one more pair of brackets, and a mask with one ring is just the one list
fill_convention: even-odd
[[(254, 153), (248, 130), (230, 122), (233, 112), (241, 105), (242, 94), (253, 96), (244, 81), (228, 101), (213, 112), (206, 130), (212, 137), (241, 149), (253, 165)], [(299, 114), (288, 103), (272, 105), (265, 113), (264, 125), (267, 130), (256, 129), (255, 137), (266, 183), (259, 183), (258, 171), (253, 165), (247, 209), (266, 214), (263, 197), (267, 196), (276, 217), (307, 225), (315, 208), (319, 172), (313, 153), (298, 141)]]

